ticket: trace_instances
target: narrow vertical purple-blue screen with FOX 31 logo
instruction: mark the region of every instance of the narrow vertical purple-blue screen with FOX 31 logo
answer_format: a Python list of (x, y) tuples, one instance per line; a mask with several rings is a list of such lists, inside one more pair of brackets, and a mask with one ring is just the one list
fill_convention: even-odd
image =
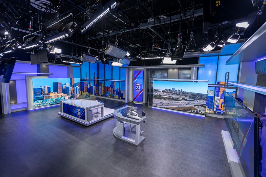
[(133, 72), (133, 101), (143, 101), (143, 71)]

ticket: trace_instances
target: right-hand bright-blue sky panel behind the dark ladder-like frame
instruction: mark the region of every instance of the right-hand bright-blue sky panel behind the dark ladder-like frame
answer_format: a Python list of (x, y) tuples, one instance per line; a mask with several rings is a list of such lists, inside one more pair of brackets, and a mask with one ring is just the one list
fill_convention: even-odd
[(230, 57), (231, 57), (231, 55), (219, 56), (218, 72), (217, 72), (217, 80), (216, 80), (217, 84), (219, 84), (219, 82), (224, 82), (226, 72), (230, 72), (229, 73), (229, 81), (237, 81), (239, 65), (238, 64), (226, 65), (226, 61)]

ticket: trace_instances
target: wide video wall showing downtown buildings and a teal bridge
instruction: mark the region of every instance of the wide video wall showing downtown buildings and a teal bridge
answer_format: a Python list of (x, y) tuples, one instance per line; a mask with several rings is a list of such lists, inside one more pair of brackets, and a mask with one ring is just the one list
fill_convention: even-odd
[(80, 78), (33, 78), (32, 83), (35, 108), (78, 98), (81, 88)]

